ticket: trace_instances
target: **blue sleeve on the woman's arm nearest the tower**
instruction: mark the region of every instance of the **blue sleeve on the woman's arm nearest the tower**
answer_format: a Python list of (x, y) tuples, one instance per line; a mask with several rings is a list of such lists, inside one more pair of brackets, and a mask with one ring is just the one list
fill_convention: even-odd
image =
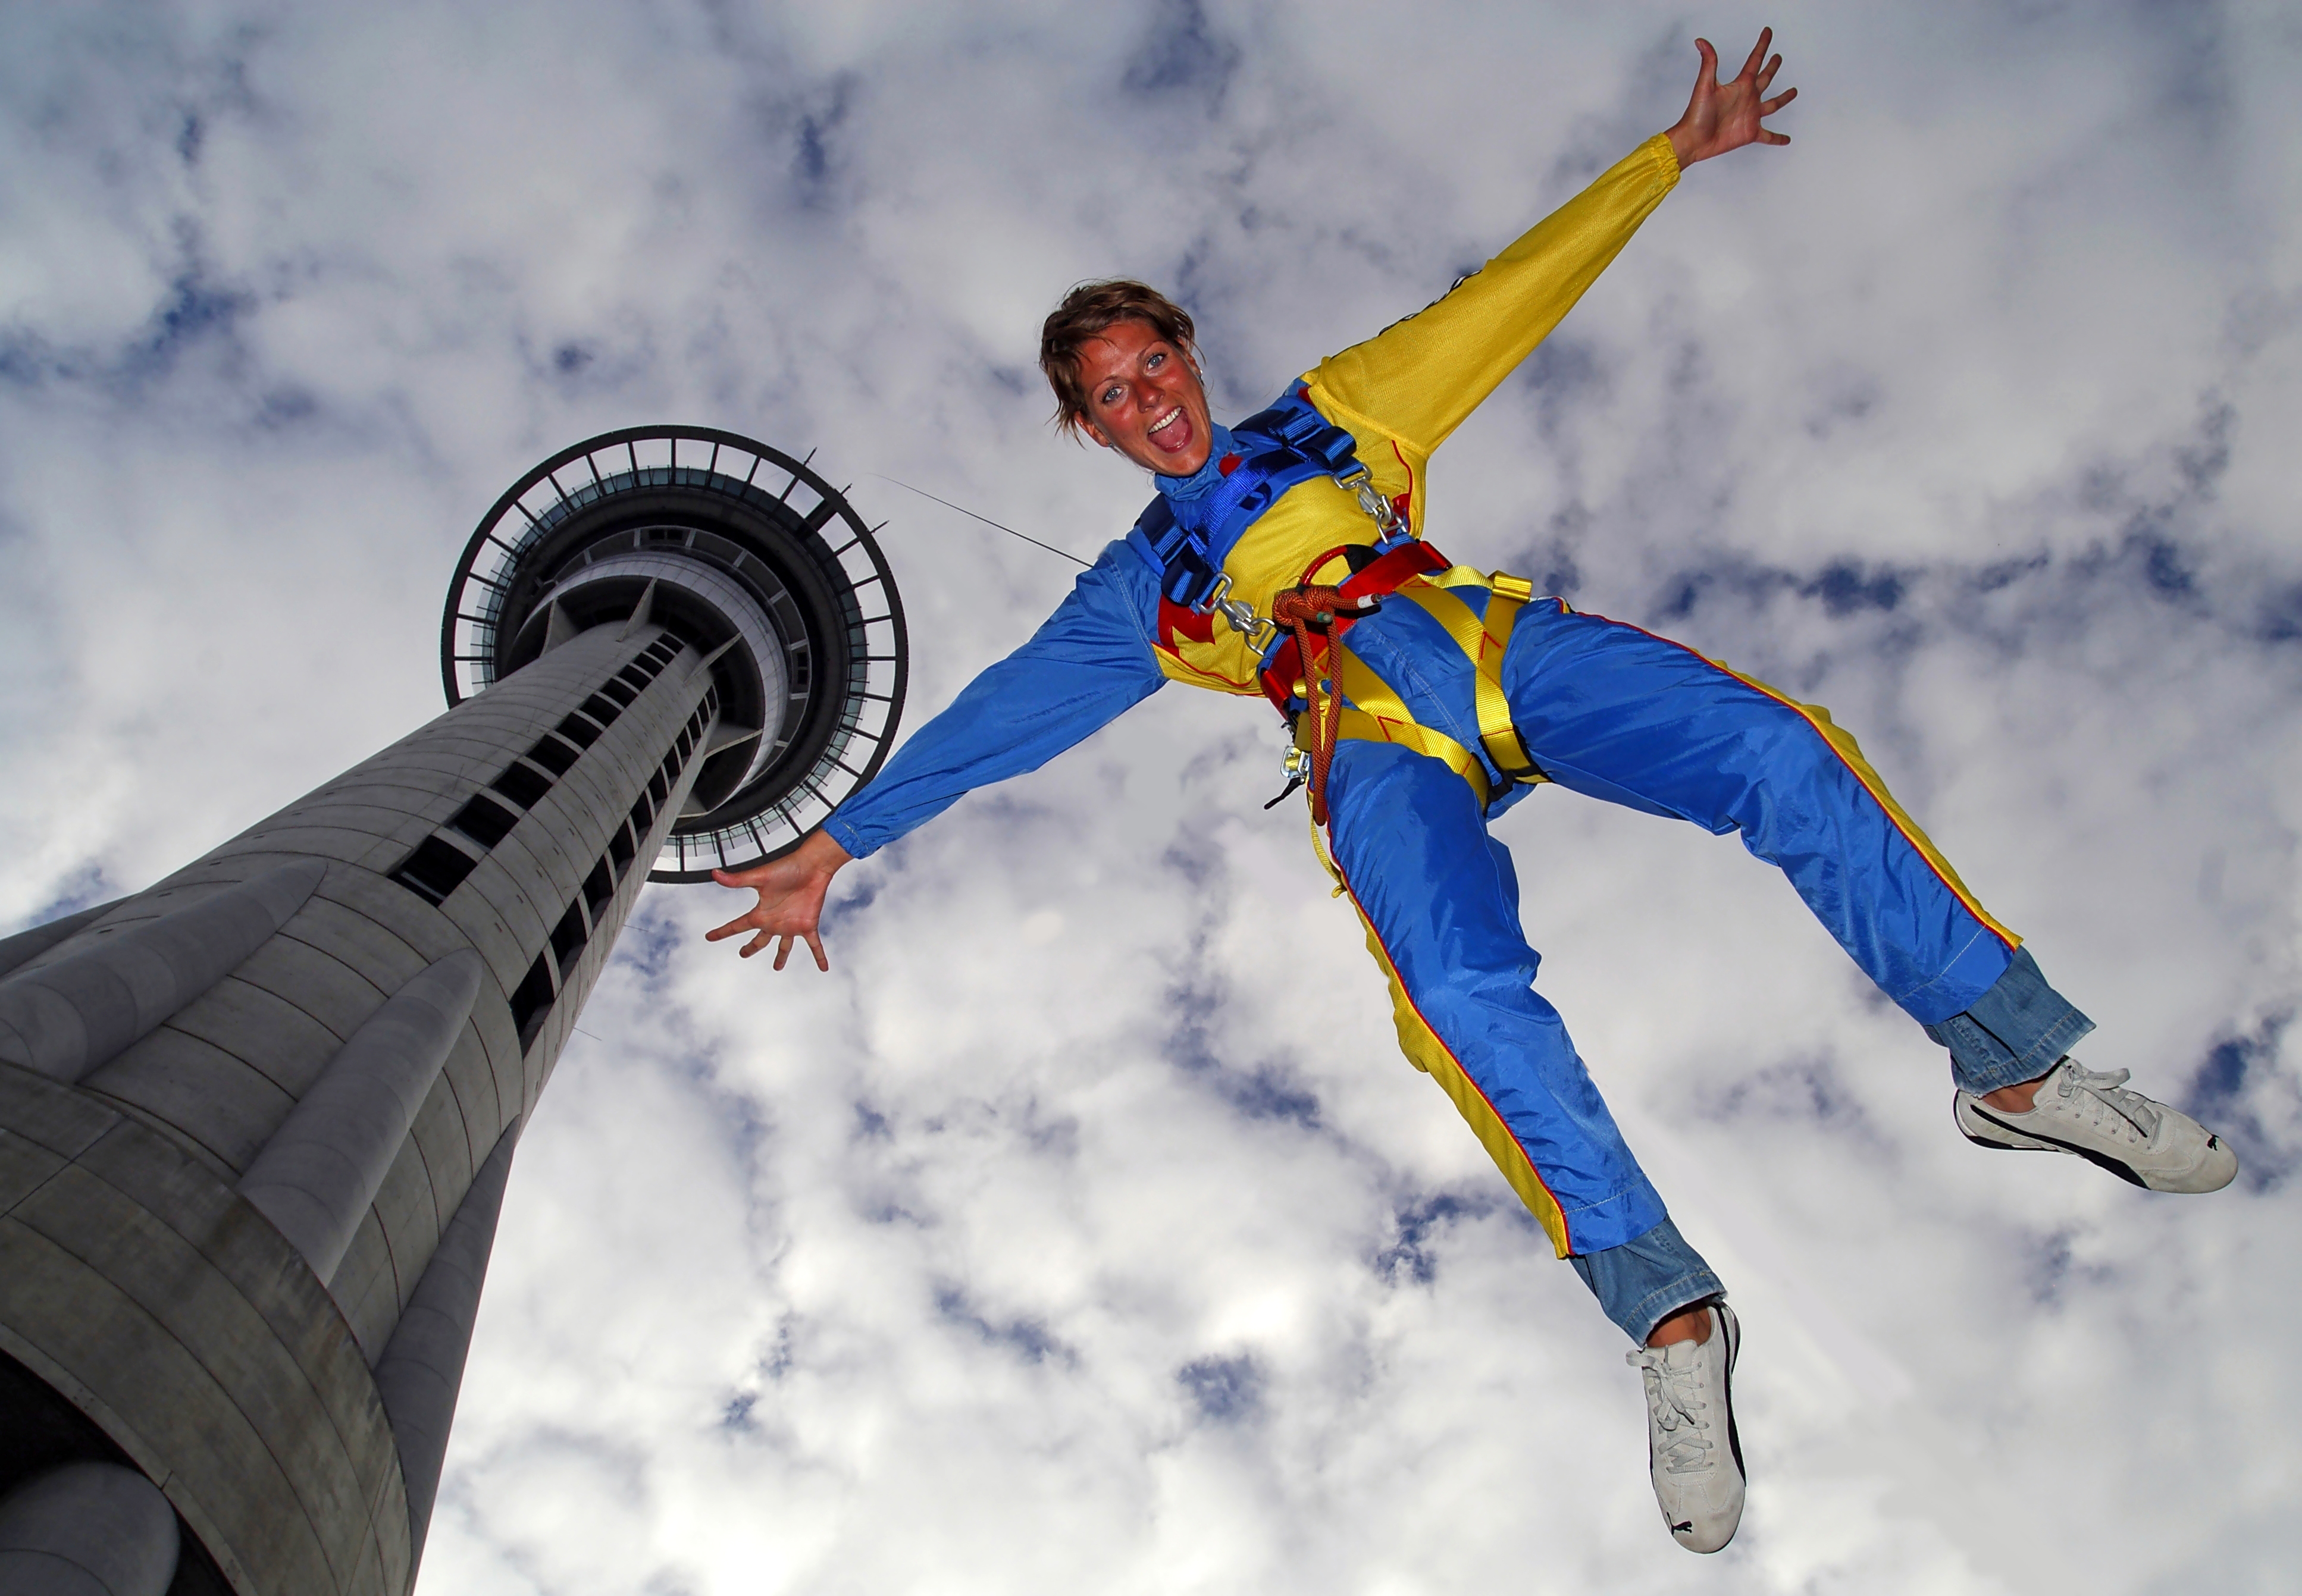
[(863, 859), (974, 788), (1087, 742), (1167, 679), (1151, 654), (1156, 622), (1158, 578), (1142, 555), (1112, 544), (1031, 640), (912, 732), (824, 831)]

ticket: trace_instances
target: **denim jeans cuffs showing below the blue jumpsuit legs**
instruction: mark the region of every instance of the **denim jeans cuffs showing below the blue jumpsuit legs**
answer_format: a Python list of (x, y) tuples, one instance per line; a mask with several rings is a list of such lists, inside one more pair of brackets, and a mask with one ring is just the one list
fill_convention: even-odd
[[(2044, 1076), (2090, 1029), (2095, 1023), (2046, 986), (2030, 951), (2014, 949), (2005, 974), (1971, 1009), (1929, 1025), (1927, 1036), (1950, 1048), (1950, 1078), (1982, 1094)], [(1669, 1218), (1621, 1246), (1572, 1253), (1568, 1262), (1600, 1310), (1641, 1345), (1680, 1308), (1726, 1294)]]

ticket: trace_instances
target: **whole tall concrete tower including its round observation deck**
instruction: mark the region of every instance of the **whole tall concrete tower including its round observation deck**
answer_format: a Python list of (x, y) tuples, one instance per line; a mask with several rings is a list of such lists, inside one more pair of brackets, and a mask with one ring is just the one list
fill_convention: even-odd
[(845, 495), (707, 428), (479, 523), (449, 712), (0, 942), (0, 1591), (403, 1596), (504, 1179), (642, 882), (796, 845), (905, 696)]

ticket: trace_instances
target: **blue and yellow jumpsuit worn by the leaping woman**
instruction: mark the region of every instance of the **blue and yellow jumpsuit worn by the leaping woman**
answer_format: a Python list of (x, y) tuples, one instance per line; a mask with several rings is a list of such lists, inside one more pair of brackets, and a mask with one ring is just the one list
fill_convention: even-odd
[[(1411, 527), (1423, 525), (1432, 451), (1676, 182), (1669, 140), (1646, 140), (1443, 299), (1301, 378)], [(1209, 493), (1236, 463), (1225, 428), (1213, 444), (1197, 477), (1158, 479), (1160, 493)], [(1222, 571), (1234, 599), (1268, 615), (1271, 594), (1337, 580), (1331, 550), (1367, 541), (1358, 500), (1317, 477), (1285, 491)], [(978, 675), (824, 829), (861, 859), (971, 788), (1036, 769), (1165, 682), (1259, 696), (1261, 666), (1264, 649), (1220, 615), (1163, 599), (1139, 537), (1116, 541), (1029, 643)], [(1720, 1283), (1676, 1234), (1558, 1011), (1533, 990), (1538, 956), (1510, 854), (1487, 834), (1531, 790), (1496, 762), (1499, 716), (1561, 788), (1740, 831), (1881, 990), (1950, 1046), (1964, 1087), (2044, 1073), (2090, 1029), (1819, 707), (1464, 567), (1411, 578), (1356, 622), (1335, 645), (1333, 679), (1347, 709), (1326, 788), (1328, 850), (1390, 983), (1400, 1046), (1634, 1340)]]

